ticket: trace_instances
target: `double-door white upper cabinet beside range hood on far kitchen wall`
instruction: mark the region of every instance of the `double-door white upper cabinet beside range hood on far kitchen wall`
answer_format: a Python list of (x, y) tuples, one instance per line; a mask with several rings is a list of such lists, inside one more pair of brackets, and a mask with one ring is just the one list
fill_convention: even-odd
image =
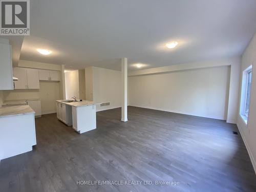
[(39, 89), (38, 69), (13, 68), (13, 74), (18, 78), (14, 89)]

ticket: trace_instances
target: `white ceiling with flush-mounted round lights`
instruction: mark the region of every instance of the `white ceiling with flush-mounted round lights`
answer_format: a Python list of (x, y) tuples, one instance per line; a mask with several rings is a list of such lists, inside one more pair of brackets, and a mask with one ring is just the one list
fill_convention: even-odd
[[(33, 0), (20, 59), (120, 70), (241, 55), (256, 31), (254, 0)], [(179, 45), (168, 50), (168, 41)], [(53, 53), (43, 56), (37, 48)], [(72, 67), (70, 67), (72, 66)]]

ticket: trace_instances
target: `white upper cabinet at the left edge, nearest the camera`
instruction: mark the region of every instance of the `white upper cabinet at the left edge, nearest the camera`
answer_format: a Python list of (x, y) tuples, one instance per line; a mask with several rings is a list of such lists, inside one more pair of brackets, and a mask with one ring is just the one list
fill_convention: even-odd
[(8, 44), (0, 43), (0, 90), (13, 90), (12, 80), (12, 47)]

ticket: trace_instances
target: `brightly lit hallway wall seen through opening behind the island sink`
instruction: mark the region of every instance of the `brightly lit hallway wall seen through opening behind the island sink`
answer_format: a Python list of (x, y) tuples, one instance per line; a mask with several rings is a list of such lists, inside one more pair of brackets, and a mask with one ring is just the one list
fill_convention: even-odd
[(65, 73), (65, 88), (66, 88), (66, 99), (71, 97), (79, 98), (79, 78), (78, 70), (69, 71)]

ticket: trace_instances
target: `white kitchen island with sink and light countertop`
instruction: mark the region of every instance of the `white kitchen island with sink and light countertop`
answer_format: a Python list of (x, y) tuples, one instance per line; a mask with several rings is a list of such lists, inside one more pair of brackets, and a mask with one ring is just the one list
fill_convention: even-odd
[(93, 101), (57, 101), (57, 118), (73, 126), (78, 133), (84, 133), (96, 129), (96, 104)]

